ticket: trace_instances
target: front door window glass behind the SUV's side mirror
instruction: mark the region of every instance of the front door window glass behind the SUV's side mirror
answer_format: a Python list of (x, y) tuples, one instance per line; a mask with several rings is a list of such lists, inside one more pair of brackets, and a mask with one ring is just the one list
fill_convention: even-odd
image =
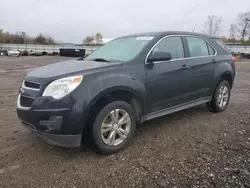
[(181, 37), (167, 37), (159, 42), (152, 50), (154, 52), (168, 52), (172, 59), (184, 58), (184, 50)]

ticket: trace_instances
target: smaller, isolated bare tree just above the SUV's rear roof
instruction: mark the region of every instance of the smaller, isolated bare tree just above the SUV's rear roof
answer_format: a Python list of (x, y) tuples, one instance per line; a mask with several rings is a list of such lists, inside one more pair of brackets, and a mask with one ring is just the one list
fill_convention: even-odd
[(223, 22), (221, 16), (209, 15), (207, 21), (204, 23), (207, 33), (209, 35), (216, 35), (220, 31), (221, 23)]

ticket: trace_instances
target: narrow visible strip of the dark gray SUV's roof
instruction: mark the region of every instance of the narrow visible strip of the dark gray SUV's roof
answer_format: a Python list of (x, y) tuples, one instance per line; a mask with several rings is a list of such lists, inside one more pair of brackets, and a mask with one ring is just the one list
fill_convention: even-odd
[(145, 32), (136, 33), (131, 35), (126, 35), (122, 37), (132, 37), (132, 36), (162, 36), (162, 35), (195, 35), (206, 38), (217, 38), (216, 36), (210, 36), (205, 33), (187, 32), (187, 31), (156, 31), (156, 32)]

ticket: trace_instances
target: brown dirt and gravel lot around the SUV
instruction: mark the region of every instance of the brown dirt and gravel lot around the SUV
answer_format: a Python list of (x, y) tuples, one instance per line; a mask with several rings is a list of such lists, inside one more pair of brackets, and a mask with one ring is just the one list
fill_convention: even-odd
[(51, 146), (21, 125), (27, 71), (61, 57), (0, 57), (0, 187), (250, 187), (250, 61), (237, 62), (227, 111), (199, 106), (149, 121), (117, 154)]

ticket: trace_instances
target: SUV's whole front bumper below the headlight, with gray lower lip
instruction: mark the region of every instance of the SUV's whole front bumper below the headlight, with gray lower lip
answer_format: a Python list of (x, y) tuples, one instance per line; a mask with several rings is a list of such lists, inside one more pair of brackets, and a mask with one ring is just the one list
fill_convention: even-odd
[(62, 100), (37, 97), (30, 108), (20, 106), (17, 115), (22, 123), (47, 142), (60, 147), (79, 147), (82, 143), (85, 105), (70, 96)]

